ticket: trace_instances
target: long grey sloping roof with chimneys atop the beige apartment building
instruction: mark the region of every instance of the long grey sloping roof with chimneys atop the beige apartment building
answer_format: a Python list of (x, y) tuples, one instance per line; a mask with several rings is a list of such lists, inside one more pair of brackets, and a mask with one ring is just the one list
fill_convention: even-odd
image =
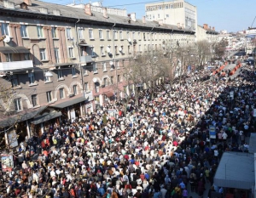
[[(10, 1), (11, 2), (11, 1)], [(61, 11), (61, 16), (62, 17), (67, 17), (69, 19), (73, 20), (88, 20), (88, 21), (95, 21), (95, 22), (104, 22), (104, 23), (109, 23), (109, 24), (114, 24), (116, 25), (132, 25), (132, 26), (139, 26), (139, 27), (148, 27), (148, 28), (153, 28), (154, 29), (163, 29), (163, 30), (175, 30), (175, 31), (189, 31), (191, 33), (195, 33), (194, 31), (191, 30), (180, 30), (177, 28), (176, 25), (159, 25), (157, 21), (148, 21), (146, 20), (146, 23), (143, 23), (143, 20), (137, 20), (133, 21), (131, 20), (131, 23), (128, 22), (129, 18), (124, 17), (124, 16), (119, 16), (119, 15), (113, 15), (113, 14), (108, 14), (108, 19), (103, 17), (102, 13), (98, 12), (92, 12), (92, 16), (85, 14), (84, 9), (82, 8), (73, 8), (73, 7), (67, 7), (65, 5), (60, 5), (60, 4), (55, 4), (55, 3), (45, 3), (42, 1), (38, 0), (32, 0), (32, 6), (28, 6), (28, 10), (20, 8), (19, 3), (22, 3), (22, 1), (18, 0), (13, 0), (15, 2), (15, 11), (17, 12), (25, 12), (25, 13), (30, 13), (30, 14), (42, 14), (40, 13), (40, 8), (48, 8), (48, 14), (44, 15), (49, 15), (49, 16), (55, 16), (53, 14), (54, 9), (58, 9)], [(5, 8), (3, 7), (3, 2), (0, 1), (0, 10), (1, 9), (9, 9), (9, 10), (14, 10), (11, 8)], [(55, 16), (56, 19), (61, 16)]]

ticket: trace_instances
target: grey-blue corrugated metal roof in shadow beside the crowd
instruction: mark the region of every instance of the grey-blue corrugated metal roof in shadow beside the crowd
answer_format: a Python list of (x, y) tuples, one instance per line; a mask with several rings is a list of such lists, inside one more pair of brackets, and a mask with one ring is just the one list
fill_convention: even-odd
[(254, 155), (224, 152), (214, 176), (214, 184), (227, 188), (252, 189), (255, 184)]

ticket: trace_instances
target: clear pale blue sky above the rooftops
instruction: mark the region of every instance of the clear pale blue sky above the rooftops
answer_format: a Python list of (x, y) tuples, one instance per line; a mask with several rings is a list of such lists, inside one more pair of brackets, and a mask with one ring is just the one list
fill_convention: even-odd
[[(49, 3), (67, 4), (93, 3), (96, 0), (41, 0)], [(126, 8), (127, 14), (136, 13), (137, 19), (145, 15), (145, 3), (156, 3), (156, 0), (102, 0), (105, 7)], [(170, 2), (170, 1), (165, 1)], [(256, 0), (186, 0), (186, 2), (197, 7), (198, 25), (208, 24), (214, 26), (216, 31), (242, 31), (248, 27), (256, 27)]]

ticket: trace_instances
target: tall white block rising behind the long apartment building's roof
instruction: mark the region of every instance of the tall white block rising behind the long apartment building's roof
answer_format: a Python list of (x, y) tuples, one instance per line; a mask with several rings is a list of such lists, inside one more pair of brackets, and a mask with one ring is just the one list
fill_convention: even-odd
[(146, 20), (162, 20), (164, 24), (177, 25), (196, 31), (197, 8), (184, 0), (145, 4)]

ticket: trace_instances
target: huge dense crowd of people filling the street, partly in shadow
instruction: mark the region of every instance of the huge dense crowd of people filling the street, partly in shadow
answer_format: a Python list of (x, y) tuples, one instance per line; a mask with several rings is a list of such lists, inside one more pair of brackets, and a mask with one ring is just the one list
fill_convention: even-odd
[(255, 132), (254, 72), (237, 72), (233, 80), (201, 81), (209, 73), (198, 71), (141, 91), (138, 105), (113, 101), (55, 123), (20, 144), (14, 170), (0, 174), (1, 197), (202, 197), (207, 183), (209, 197), (222, 193), (213, 184), (222, 154), (247, 152)]

